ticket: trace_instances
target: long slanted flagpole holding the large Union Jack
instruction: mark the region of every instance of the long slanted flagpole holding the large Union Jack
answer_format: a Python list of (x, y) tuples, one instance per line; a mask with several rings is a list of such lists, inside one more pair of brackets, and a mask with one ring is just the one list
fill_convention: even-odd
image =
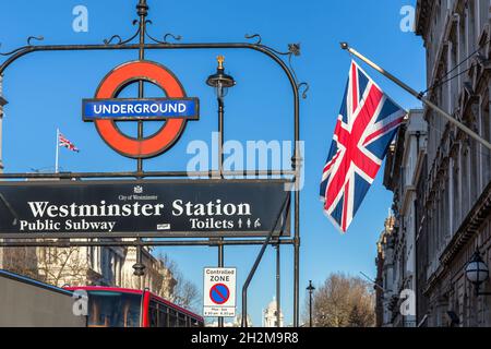
[(450, 122), (452, 122), (454, 125), (456, 125), (457, 128), (459, 128), (462, 131), (464, 131), (465, 133), (467, 133), (469, 136), (471, 136), (472, 139), (475, 139), (476, 141), (478, 141), (479, 143), (481, 143), (483, 146), (486, 146), (488, 149), (491, 149), (491, 143), (489, 143), (488, 141), (486, 141), (483, 137), (481, 137), (479, 134), (477, 134), (476, 132), (474, 132), (471, 129), (469, 129), (468, 127), (466, 127), (464, 123), (462, 123), (460, 121), (458, 121), (457, 119), (455, 119), (454, 117), (452, 117), (448, 112), (446, 112), (445, 110), (443, 110), (442, 108), (440, 108), (439, 106), (436, 106), (434, 103), (432, 103), (431, 100), (429, 100), (428, 98), (424, 97), (423, 93), (418, 93), (416, 89), (409, 87), (408, 85), (406, 85), (404, 82), (402, 82), (400, 80), (398, 80), (397, 77), (395, 77), (393, 74), (391, 74), (390, 72), (385, 71), (384, 69), (382, 69), (381, 67), (379, 67), (378, 64), (375, 64), (374, 62), (372, 62), (370, 59), (368, 59), (367, 57), (364, 57), (363, 55), (361, 55), (360, 52), (358, 52), (357, 50), (355, 50), (354, 48), (349, 47), (348, 43), (340, 43), (340, 47), (344, 50), (347, 50), (349, 53), (358, 57), (359, 59), (361, 59), (363, 62), (366, 62), (367, 64), (369, 64), (371, 68), (373, 68), (374, 70), (376, 70), (379, 73), (381, 73), (382, 75), (384, 75), (385, 77), (387, 77), (388, 80), (393, 81), (394, 83), (396, 83), (397, 85), (399, 85), (402, 88), (404, 88), (406, 92), (408, 92), (409, 94), (411, 94), (412, 96), (415, 96), (416, 98), (418, 98), (419, 100), (421, 100), (424, 105), (427, 105), (429, 108), (433, 109), (434, 111), (436, 111), (438, 113), (440, 113), (442, 117), (444, 117), (446, 120), (448, 120)]

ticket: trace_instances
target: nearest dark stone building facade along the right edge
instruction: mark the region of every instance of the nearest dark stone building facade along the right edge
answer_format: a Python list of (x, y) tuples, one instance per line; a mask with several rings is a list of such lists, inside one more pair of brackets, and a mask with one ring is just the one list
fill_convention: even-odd
[[(428, 97), (491, 141), (490, 1), (418, 0), (416, 12)], [(427, 146), (412, 189), (416, 263), (405, 285), (416, 291), (416, 324), (491, 326), (491, 298), (477, 296), (465, 276), (477, 249), (491, 264), (491, 152), (431, 109), (423, 118)], [(400, 229), (408, 213), (395, 196)], [(481, 291), (490, 290), (488, 280)]]

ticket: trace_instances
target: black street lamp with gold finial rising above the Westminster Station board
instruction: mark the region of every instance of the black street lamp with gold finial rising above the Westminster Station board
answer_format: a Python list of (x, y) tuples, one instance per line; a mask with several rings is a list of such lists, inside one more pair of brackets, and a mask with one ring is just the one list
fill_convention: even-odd
[(215, 88), (215, 94), (218, 100), (218, 172), (220, 177), (223, 177), (224, 172), (224, 97), (228, 93), (228, 88), (233, 87), (236, 85), (236, 81), (231, 75), (225, 73), (224, 56), (218, 56), (216, 58), (218, 62), (218, 67), (216, 69), (216, 73), (212, 74), (206, 79), (206, 84), (211, 87)]

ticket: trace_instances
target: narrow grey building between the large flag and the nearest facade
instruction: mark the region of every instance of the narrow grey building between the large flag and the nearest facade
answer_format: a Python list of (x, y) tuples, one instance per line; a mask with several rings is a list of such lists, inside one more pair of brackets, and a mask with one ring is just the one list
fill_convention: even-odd
[[(386, 301), (384, 311), (388, 310), (391, 313), (390, 318), (385, 318), (385, 324), (394, 326), (416, 326), (416, 308), (414, 302), (410, 303), (416, 299), (417, 289), (416, 239), (419, 216), (416, 188), (426, 159), (426, 145), (427, 123), (423, 111), (410, 110), (387, 154), (384, 185), (394, 192), (392, 210), (395, 215), (390, 234), (385, 233), (384, 239), (379, 242), (379, 249), (383, 243), (386, 254), (383, 267), (391, 272), (383, 279)], [(400, 311), (403, 305), (405, 310)]]

